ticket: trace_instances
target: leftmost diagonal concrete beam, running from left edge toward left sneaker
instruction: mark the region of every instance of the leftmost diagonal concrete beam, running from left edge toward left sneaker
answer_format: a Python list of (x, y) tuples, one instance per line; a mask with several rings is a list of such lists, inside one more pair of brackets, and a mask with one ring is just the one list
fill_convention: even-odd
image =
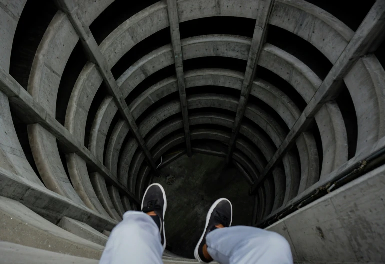
[(113, 174), (80, 143), (55, 117), (51, 116), (9, 73), (0, 68), (0, 91), (9, 98), (9, 104), (26, 124), (38, 123), (64, 146), (65, 154), (76, 153), (94, 171), (99, 172), (108, 183), (116, 186), (122, 194), (139, 204), (139, 200)]

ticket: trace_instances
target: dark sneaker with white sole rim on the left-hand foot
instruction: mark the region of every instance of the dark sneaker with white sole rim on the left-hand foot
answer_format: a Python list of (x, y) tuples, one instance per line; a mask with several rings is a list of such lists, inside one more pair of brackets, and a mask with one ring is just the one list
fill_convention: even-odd
[(160, 222), (154, 219), (159, 226), (163, 250), (166, 248), (166, 234), (164, 233), (164, 214), (166, 213), (167, 199), (163, 187), (159, 183), (153, 183), (147, 187), (142, 200), (142, 211), (144, 213), (154, 211)]

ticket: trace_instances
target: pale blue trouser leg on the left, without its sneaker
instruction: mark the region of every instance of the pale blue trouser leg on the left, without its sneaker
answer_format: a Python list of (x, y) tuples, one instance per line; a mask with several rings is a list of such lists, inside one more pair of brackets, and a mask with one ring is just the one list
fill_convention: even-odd
[(114, 227), (99, 264), (163, 264), (159, 228), (147, 214), (124, 213)]

